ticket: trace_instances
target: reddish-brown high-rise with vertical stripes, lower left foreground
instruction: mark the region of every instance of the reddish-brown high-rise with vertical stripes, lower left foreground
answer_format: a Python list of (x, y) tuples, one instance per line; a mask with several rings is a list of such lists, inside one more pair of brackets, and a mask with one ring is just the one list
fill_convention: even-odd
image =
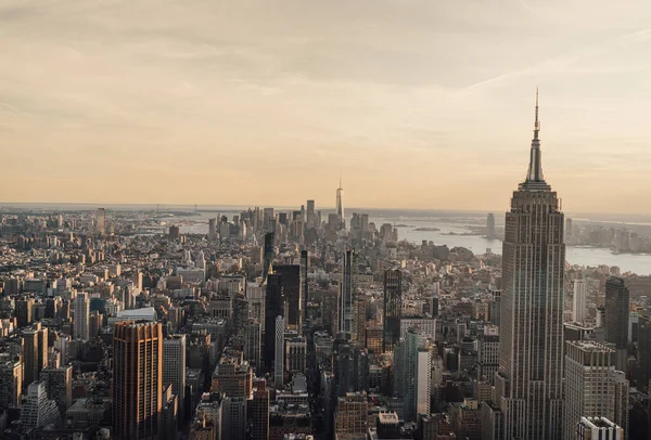
[(113, 333), (113, 431), (116, 439), (156, 439), (163, 411), (163, 326), (124, 321)]

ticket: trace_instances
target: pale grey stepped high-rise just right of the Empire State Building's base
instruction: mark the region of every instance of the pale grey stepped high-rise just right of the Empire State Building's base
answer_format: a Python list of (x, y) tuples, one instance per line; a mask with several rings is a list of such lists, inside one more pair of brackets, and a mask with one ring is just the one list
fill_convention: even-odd
[[(563, 439), (576, 438), (582, 417), (607, 417), (626, 425), (628, 383), (615, 370), (615, 350), (595, 341), (565, 344)], [(623, 389), (624, 388), (624, 389)]]

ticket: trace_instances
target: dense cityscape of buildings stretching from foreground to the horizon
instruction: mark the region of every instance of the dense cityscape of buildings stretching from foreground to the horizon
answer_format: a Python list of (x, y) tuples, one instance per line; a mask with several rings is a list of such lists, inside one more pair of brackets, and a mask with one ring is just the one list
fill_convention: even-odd
[(346, 217), (342, 182), (333, 210), (3, 206), (3, 438), (646, 439), (651, 277), (565, 254), (648, 238), (564, 217), (538, 113), (503, 227), (469, 229), (495, 251)]

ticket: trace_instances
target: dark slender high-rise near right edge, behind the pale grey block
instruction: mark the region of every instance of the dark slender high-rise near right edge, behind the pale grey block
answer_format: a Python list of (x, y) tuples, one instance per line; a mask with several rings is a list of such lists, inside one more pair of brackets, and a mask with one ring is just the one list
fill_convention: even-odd
[(628, 371), (628, 319), (630, 293), (624, 280), (612, 276), (605, 282), (605, 340), (615, 345), (617, 370)]

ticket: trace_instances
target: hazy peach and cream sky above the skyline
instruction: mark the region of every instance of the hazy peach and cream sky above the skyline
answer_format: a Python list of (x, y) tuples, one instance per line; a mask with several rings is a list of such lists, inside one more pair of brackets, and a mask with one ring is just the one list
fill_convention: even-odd
[(3, 0), (0, 202), (651, 213), (648, 0)]

